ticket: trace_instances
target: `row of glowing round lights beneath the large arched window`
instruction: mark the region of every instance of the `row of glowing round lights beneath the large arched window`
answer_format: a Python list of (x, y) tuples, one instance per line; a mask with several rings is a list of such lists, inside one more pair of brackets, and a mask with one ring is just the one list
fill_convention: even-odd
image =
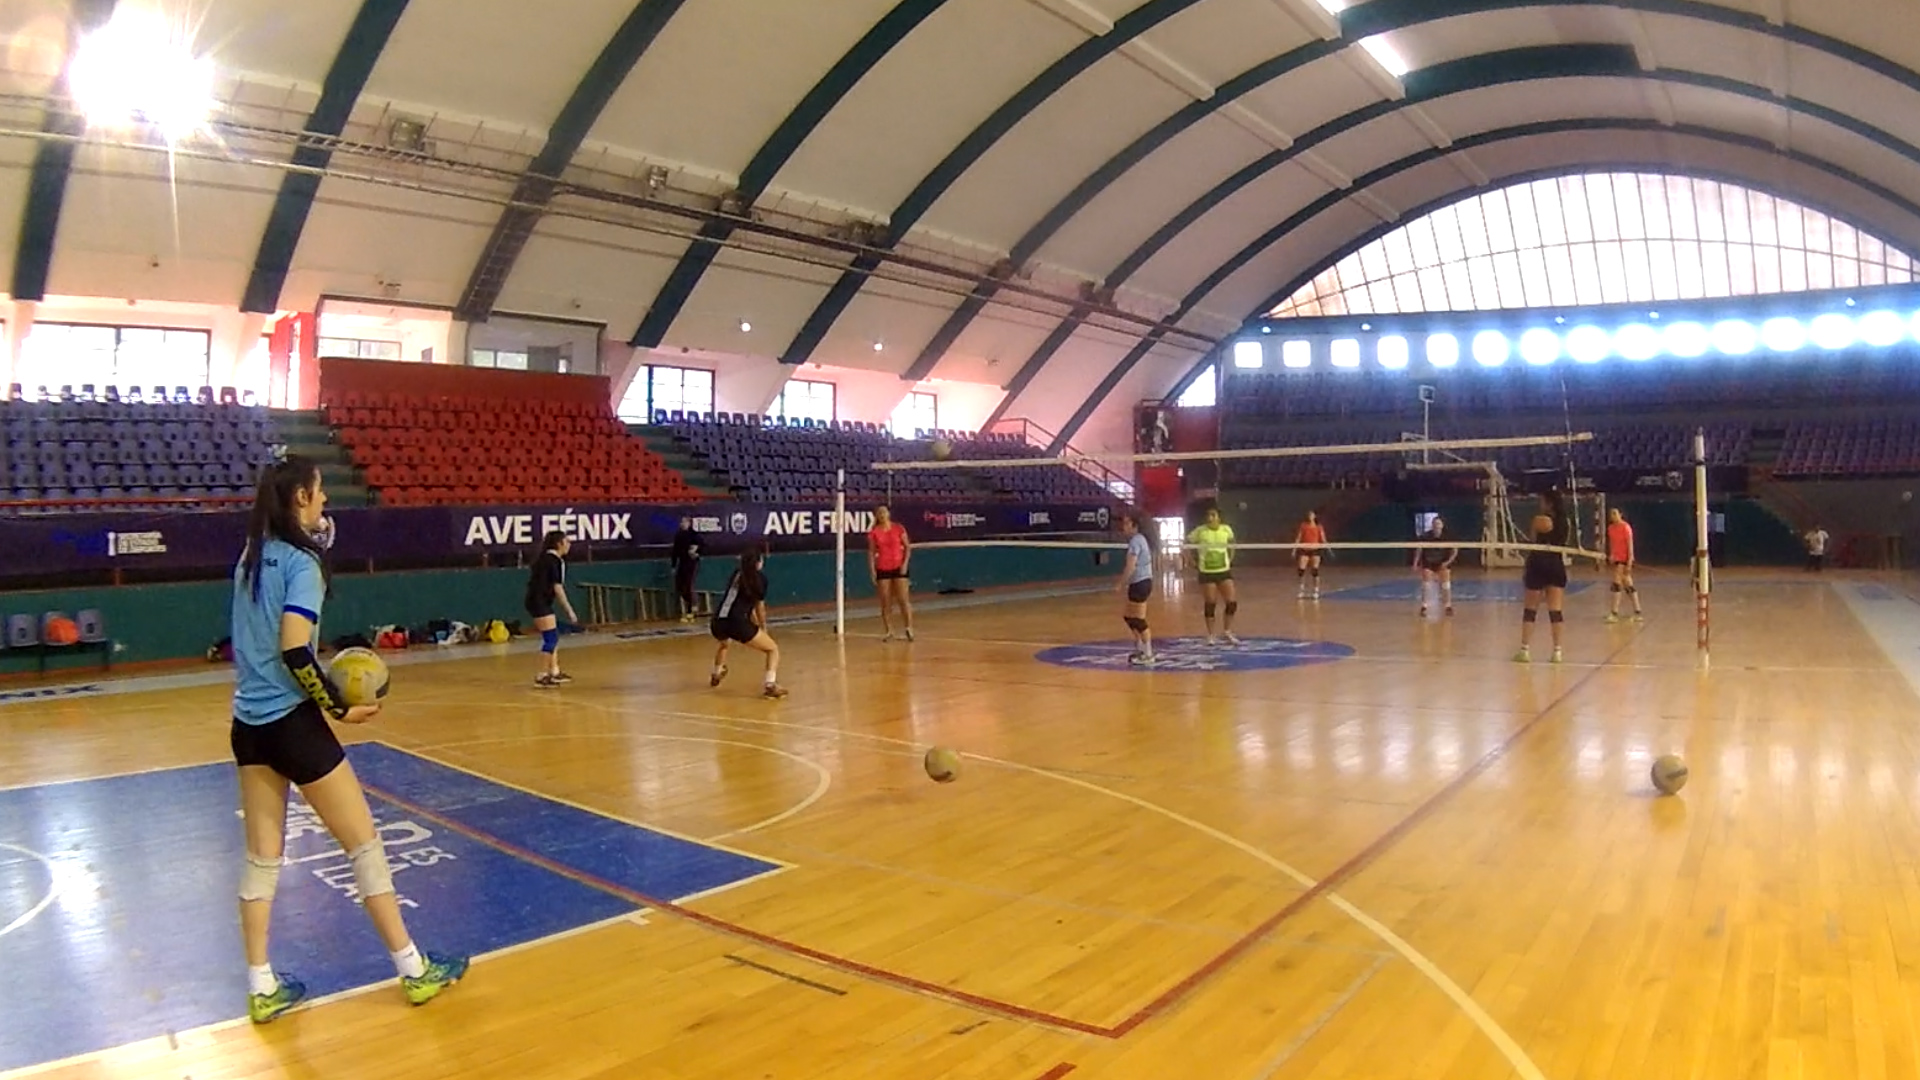
[[(1271, 332), (1271, 327), (1261, 327), (1261, 332)], [(1500, 367), (1515, 359), (1544, 367), (1561, 359), (1599, 363), (1609, 357), (1640, 361), (1659, 356), (1693, 359), (1709, 354), (1793, 354), (1809, 348), (1836, 352), (1860, 344), (1887, 348), (1908, 338), (1920, 340), (1920, 311), (1912, 315), (1899, 311), (1828, 313), (1812, 319), (1776, 317), (1759, 323), (1749, 319), (1661, 323), (1659, 313), (1651, 313), (1649, 321), (1628, 323), (1617, 331), (1596, 325), (1565, 331), (1536, 327), (1519, 334), (1438, 331), (1425, 334), (1425, 340), (1407, 334), (1382, 334), (1373, 338), (1373, 346), (1379, 365), (1398, 371), (1413, 361), (1417, 346), (1428, 365), (1446, 369), (1463, 359), (1473, 359), (1480, 367)], [(1279, 348), (1281, 367), (1311, 367), (1313, 344), (1308, 338), (1283, 340)], [(1336, 336), (1327, 342), (1327, 356), (1334, 367), (1357, 369), (1361, 367), (1361, 338)], [(1258, 338), (1235, 342), (1233, 365), (1238, 369), (1265, 367), (1265, 344)]]

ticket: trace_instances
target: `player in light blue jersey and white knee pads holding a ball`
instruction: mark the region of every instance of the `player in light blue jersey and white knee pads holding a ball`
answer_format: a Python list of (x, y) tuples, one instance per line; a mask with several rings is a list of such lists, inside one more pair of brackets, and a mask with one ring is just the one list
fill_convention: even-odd
[(348, 707), (313, 655), (328, 594), (321, 544), (313, 538), (324, 505), (319, 465), (305, 457), (269, 465), (253, 492), (246, 550), (234, 567), (230, 742), (246, 819), (240, 936), (246, 942), (248, 1017), (255, 1024), (307, 995), (298, 978), (267, 965), (267, 924), (286, 853), (288, 786), (300, 788), (353, 863), (361, 905), (394, 957), (407, 999), (420, 1005), (467, 974), (467, 957), (422, 953), (407, 936), (367, 796), (328, 726), (328, 721), (363, 724), (380, 707)]

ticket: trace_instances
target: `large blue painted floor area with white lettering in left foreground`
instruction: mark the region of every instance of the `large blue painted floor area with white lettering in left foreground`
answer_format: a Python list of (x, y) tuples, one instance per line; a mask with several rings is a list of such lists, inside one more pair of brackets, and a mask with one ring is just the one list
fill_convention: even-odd
[[(426, 949), (480, 955), (636, 911), (634, 897), (568, 874), (680, 899), (778, 869), (388, 746), (349, 755), (399, 799), (371, 801)], [(0, 930), (12, 926), (0, 934), (0, 1070), (246, 1015), (236, 807), (225, 763), (0, 792)], [(351, 867), (298, 796), (286, 857), (273, 965), (315, 995), (390, 982)], [(23, 920), (50, 888), (54, 901)]]

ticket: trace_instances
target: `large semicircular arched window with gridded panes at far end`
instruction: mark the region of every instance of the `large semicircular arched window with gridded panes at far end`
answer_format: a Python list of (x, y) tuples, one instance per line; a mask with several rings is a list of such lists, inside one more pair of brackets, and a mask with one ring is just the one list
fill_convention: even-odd
[(1707, 300), (1907, 284), (1914, 273), (1884, 238), (1766, 192), (1582, 173), (1444, 206), (1327, 267), (1271, 315)]

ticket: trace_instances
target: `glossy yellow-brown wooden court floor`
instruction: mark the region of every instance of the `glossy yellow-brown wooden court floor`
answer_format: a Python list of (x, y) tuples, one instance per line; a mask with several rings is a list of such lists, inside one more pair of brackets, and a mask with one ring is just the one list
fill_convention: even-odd
[[(1836, 575), (1724, 577), (1705, 667), (1670, 573), (1644, 625), (1571, 598), (1567, 663), (1542, 621), (1526, 667), (1517, 603), (1336, 594), (1394, 580), (1302, 603), (1242, 575), (1242, 636), (1356, 650), (1273, 671), (1035, 659), (1121, 638), (1110, 592), (929, 609), (914, 644), (783, 628), (785, 701), (739, 653), (708, 690), (705, 636), (570, 648), (561, 692), (524, 653), (397, 669), (353, 738), (787, 869), (424, 1009), (388, 984), (35, 1074), (1920, 1076), (1916, 698)], [(1194, 588), (1152, 619), (1200, 632)], [(0, 709), (0, 788), (225, 761), (225, 701)], [(958, 782), (922, 773), (935, 744)], [(1665, 751), (1678, 798), (1647, 784)]]

